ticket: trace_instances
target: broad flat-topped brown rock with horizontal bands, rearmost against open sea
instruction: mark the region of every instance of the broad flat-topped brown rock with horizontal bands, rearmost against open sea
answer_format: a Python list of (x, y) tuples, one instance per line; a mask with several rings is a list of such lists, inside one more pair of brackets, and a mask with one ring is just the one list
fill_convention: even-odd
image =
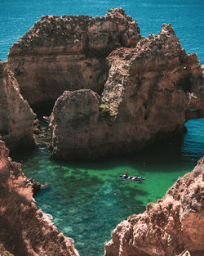
[(42, 16), (11, 47), (8, 64), (29, 104), (56, 100), (64, 90), (101, 92), (105, 57), (139, 41), (137, 22), (121, 8), (105, 16)]

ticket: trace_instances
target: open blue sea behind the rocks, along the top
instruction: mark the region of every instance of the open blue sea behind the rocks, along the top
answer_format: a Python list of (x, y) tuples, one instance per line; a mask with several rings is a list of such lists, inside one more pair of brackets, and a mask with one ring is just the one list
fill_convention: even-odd
[(196, 52), (204, 64), (203, 0), (0, 0), (0, 59), (7, 60), (11, 44), (42, 15), (104, 16), (113, 7), (124, 8), (137, 20), (144, 36), (171, 23), (186, 51)]

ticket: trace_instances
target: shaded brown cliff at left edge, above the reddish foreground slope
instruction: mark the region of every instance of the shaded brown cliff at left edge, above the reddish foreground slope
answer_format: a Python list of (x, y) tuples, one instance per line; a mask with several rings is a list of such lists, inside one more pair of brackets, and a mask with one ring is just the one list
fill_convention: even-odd
[(19, 85), (7, 63), (0, 61), (0, 135), (9, 149), (33, 145), (35, 114), (20, 95)]

